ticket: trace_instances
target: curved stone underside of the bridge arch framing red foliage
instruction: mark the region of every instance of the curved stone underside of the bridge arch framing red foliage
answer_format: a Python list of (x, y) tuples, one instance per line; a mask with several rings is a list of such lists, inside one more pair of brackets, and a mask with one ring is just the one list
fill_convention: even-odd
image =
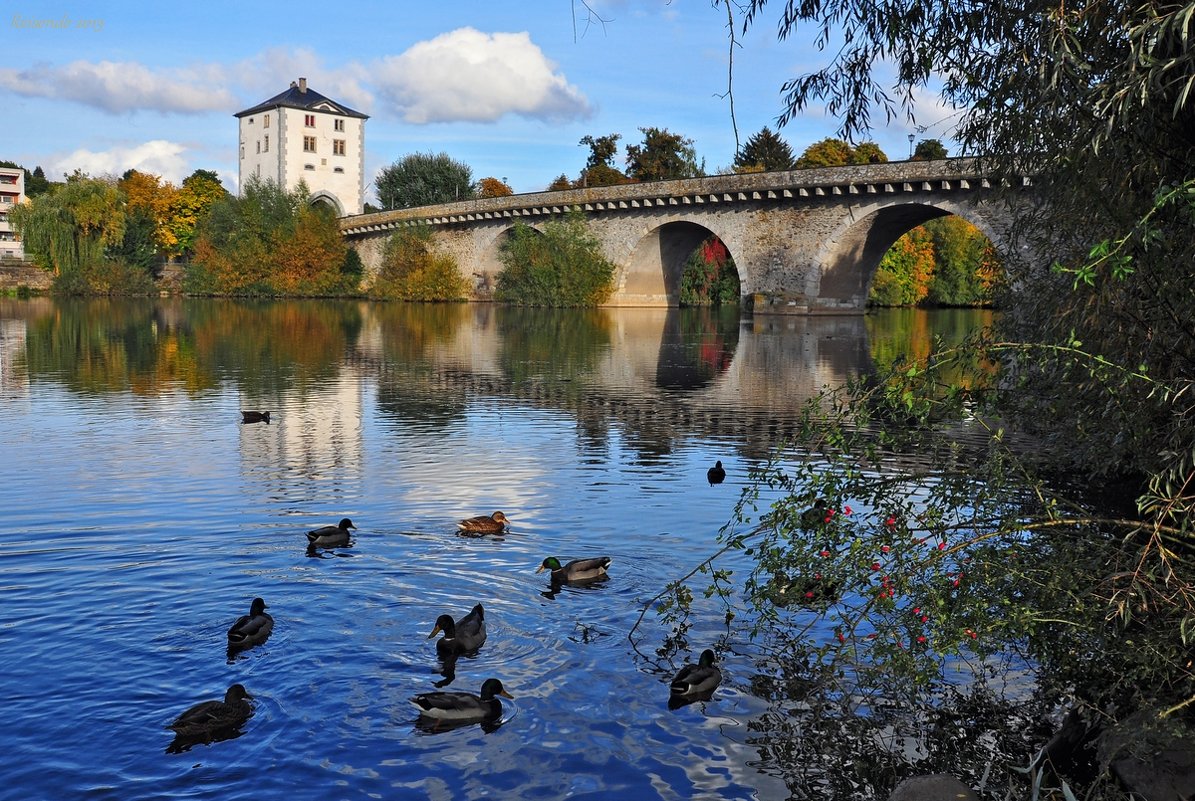
[(612, 302), (680, 305), (685, 262), (710, 237), (730, 249), (717, 231), (692, 220), (670, 220), (649, 230), (623, 263)]

